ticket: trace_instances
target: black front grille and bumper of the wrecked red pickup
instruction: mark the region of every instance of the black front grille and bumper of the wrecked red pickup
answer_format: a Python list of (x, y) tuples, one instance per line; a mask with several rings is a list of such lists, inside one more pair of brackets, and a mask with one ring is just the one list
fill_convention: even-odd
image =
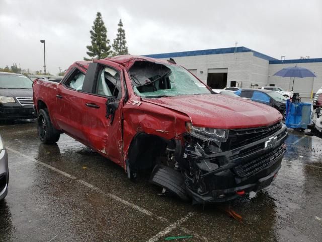
[(187, 193), (195, 203), (213, 203), (269, 186), (281, 167), (286, 138), (287, 129), (282, 125), (272, 137), (223, 152), (197, 156), (191, 144), (185, 151), (190, 160), (186, 163), (192, 167), (184, 174)]

